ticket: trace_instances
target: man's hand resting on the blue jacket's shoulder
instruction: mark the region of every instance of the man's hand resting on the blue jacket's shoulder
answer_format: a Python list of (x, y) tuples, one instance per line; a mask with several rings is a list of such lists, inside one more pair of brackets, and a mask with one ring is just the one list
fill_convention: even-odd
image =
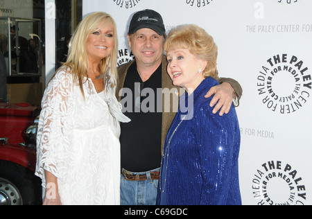
[(214, 105), (216, 105), (212, 113), (216, 114), (222, 107), (219, 115), (223, 116), (223, 114), (228, 114), (229, 109), (232, 107), (233, 98), (235, 95), (233, 87), (229, 83), (224, 82), (221, 85), (211, 87), (211, 89), (205, 95), (205, 98), (209, 98), (212, 95), (214, 95), (214, 98), (212, 98), (210, 106), (214, 107)]

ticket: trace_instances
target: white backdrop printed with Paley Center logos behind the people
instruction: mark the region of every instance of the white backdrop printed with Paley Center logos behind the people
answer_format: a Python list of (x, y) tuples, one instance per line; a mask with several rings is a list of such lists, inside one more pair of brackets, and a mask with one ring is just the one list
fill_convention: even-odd
[(83, 1), (84, 15), (101, 10), (116, 20), (118, 65), (132, 60), (130, 17), (146, 8), (162, 15), (167, 31), (205, 28), (218, 44), (220, 76), (243, 87), (243, 204), (312, 204), (312, 1)]

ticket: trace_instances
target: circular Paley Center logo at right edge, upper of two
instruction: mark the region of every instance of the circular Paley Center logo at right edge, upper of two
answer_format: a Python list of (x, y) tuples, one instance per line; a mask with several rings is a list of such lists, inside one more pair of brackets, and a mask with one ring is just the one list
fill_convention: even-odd
[(268, 58), (257, 76), (258, 94), (267, 109), (291, 114), (304, 108), (312, 89), (307, 63), (297, 55), (286, 53)]

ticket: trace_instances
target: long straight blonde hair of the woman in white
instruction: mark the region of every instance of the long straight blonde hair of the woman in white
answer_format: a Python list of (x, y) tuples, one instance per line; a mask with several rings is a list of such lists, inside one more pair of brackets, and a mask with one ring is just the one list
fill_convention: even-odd
[[(104, 25), (100, 26), (103, 22)], [(107, 24), (112, 24), (114, 26), (114, 49), (109, 57), (105, 57), (101, 60), (100, 70), (102, 74), (105, 73), (107, 68), (110, 67), (112, 77), (114, 77), (115, 81), (115, 84), (112, 86), (116, 86), (118, 37), (114, 19), (105, 12), (94, 12), (80, 22), (78, 28), (73, 34), (73, 37), (71, 37), (67, 62), (63, 63), (63, 67), (68, 67), (73, 74), (74, 82), (79, 82), (80, 90), (83, 93), (83, 96), (85, 96), (83, 92), (83, 83), (86, 82), (84, 78), (89, 72), (87, 39), (89, 35), (105, 27)]]

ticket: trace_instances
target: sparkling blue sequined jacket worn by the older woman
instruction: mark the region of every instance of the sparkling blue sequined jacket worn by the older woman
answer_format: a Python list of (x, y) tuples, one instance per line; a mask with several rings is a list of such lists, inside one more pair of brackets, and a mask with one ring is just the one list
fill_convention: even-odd
[(191, 97), (180, 98), (164, 144), (157, 204), (241, 204), (239, 122), (233, 106), (229, 114), (212, 113), (212, 97), (204, 96), (215, 85), (217, 80), (207, 78), (193, 92), (193, 112), (188, 112), (193, 116), (187, 120), (181, 106)]

